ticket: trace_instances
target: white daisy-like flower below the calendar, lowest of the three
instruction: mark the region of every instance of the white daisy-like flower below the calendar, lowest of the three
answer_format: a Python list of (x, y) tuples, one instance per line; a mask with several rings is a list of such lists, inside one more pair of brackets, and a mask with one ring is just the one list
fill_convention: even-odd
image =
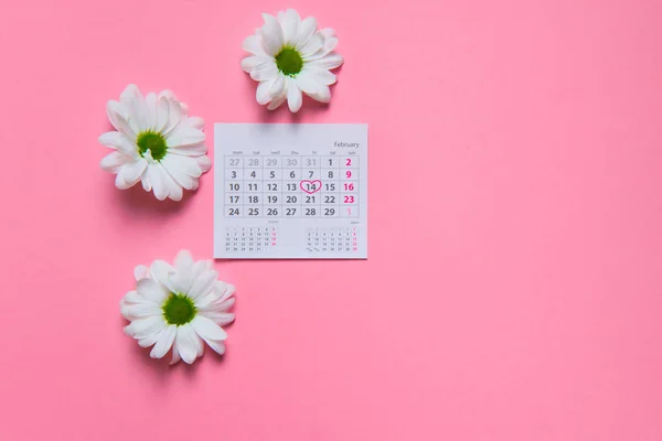
[(142, 347), (152, 346), (150, 356), (162, 358), (172, 347), (172, 363), (191, 364), (202, 356), (203, 341), (218, 354), (225, 353), (227, 334), (221, 326), (234, 321), (227, 312), (235, 302), (232, 284), (218, 281), (211, 260), (191, 258), (182, 250), (174, 267), (156, 260), (139, 265), (134, 275), (135, 291), (119, 302), (121, 315), (131, 323), (125, 333)]

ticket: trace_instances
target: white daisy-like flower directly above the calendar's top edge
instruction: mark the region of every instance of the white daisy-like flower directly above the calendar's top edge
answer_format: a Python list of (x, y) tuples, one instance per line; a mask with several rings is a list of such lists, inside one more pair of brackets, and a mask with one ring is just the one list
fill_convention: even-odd
[(259, 82), (256, 98), (269, 110), (285, 100), (292, 112), (299, 111), (303, 92), (321, 103), (329, 103), (329, 86), (335, 83), (330, 69), (343, 63), (333, 52), (338, 45), (332, 29), (317, 31), (317, 21), (301, 20), (293, 9), (279, 12), (278, 19), (263, 14), (265, 24), (244, 40), (244, 50), (253, 55), (242, 60), (242, 68)]

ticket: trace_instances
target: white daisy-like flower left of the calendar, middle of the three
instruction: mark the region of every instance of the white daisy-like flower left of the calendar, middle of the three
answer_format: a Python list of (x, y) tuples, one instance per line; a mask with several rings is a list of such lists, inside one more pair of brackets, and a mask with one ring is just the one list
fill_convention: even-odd
[(212, 166), (202, 131), (204, 121), (190, 117), (172, 92), (142, 96), (131, 84), (119, 101), (108, 101), (106, 110), (117, 131), (99, 137), (102, 144), (114, 149), (102, 160), (102, 169), (117, 174), (118, 189), (140, 181), (159, 201), (181, 201), (182, 187), (197, 189), (199, 178)]

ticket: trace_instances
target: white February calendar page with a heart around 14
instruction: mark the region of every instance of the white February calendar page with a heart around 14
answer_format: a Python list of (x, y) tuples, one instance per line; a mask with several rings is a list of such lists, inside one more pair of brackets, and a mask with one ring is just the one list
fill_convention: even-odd
[(216, 123), (214, 257), (367, 258), (367, 126)]

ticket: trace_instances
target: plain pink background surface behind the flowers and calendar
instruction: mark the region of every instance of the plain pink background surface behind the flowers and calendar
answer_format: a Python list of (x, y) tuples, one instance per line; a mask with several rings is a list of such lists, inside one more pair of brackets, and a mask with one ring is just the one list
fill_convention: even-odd
[[(260, 12), (333, 26), (329, 108), (267, 114)], [(0, 6), (3, 440), (662, 439), (662, 3)], [(102, 172), (105, 103), (172, 88), (207, 121), (370, 123), (367, 261), (216, 262), (224, 358), (121, 332), (132, 268), (212, 256), (181, 204)]]

